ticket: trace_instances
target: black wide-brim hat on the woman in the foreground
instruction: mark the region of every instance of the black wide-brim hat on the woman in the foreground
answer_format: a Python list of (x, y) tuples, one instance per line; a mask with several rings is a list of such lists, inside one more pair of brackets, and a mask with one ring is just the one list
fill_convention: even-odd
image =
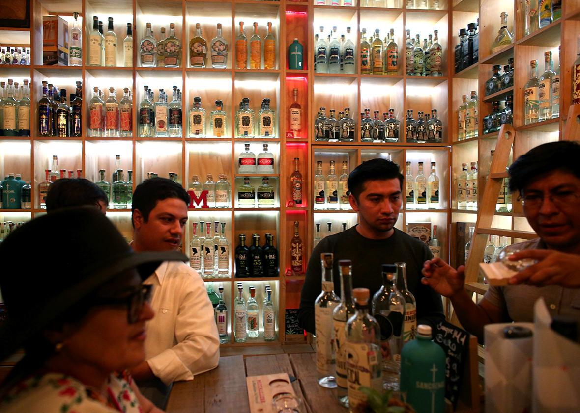
[(0, 244), (0, 290), (8, 319), (0, 326), (5, 359), (90, 293), (135, 268), (142, 279), (162, 261), (187, 261), (180, 252), (133, 252), (94, 207), (35, 218)]

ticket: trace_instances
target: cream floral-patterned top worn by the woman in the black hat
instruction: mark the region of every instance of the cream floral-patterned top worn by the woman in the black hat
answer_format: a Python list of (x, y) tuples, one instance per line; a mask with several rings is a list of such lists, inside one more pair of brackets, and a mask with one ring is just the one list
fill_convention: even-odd
[(126, 373), (111, 375), (107, 397), (61, 373), (41, 373), (14, 386), (0, 403), (3, 413), (142, 413)]

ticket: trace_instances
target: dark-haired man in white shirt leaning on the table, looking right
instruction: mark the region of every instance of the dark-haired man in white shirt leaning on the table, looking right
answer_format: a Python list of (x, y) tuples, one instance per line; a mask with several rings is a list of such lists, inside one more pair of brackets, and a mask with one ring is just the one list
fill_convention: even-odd
[[(170, 179), (147, 179), (137, 185), (132, 201), (133, 249), (180, 249), (189, 201), (183, 187)], [(154, 286), (155, 318), (147, 327), (146, 361), (131, 373), (143, 394), (164, 407), (173, 381), (192, 380), (218, 366), (218, 329), (204, 282), (187, 264), (165, 262), (144, 284)]]

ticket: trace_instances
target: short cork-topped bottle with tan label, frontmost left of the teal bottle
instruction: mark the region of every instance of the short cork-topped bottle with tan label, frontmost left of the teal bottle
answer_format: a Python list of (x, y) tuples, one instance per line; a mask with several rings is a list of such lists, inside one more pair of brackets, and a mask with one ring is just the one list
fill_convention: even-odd
[(353, 290), (356, 312), (346, 323), (346, 349), (349, 411), (362, 412), (367, 408), (367, 396), (361, 386), (378, 392), (383, 389), (379, 323), (369, 315), (369, 291)]

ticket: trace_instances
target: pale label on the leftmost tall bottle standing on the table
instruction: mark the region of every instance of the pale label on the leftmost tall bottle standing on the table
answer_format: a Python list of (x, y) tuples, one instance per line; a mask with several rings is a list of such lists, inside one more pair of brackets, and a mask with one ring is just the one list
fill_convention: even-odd
[(328, 307), (314, 305), (314, 323), (316, 325), (316, 370), (318, 374), (332, 374), (336, 363), (332, 346), (332, 310), (338, 303), (329, 302)]

